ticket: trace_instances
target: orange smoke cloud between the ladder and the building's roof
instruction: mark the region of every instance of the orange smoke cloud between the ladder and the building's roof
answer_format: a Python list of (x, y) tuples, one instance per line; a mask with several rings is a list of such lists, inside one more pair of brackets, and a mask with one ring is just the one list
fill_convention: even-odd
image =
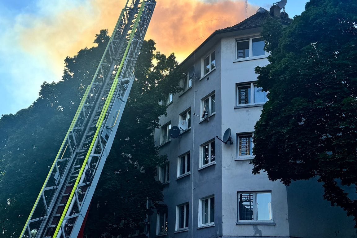
[(245, 1), (158, 1), (147, 37), (158, 50), (175, 52), (182, 61), (215, 30), (235, 25), (256, 10), (248, 5), (246, 12)]

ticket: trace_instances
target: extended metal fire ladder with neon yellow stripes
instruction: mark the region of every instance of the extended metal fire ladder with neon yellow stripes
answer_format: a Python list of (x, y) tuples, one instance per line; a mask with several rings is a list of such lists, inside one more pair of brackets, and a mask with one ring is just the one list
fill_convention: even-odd
[(129, 97), (155, 5), (155, 0), (127, 0), (20, 238), (78, 236)]

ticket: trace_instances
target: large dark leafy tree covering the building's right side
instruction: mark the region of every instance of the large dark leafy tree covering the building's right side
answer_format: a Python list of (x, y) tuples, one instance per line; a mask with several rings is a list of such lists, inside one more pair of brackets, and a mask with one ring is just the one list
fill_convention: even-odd
[(252, 161), (253, 173), (286, 185), (317, 177), (324, 198), (355, 221), (356, 193), (346, 188), (357, 184), (356, 19), (355, 0), (311, 0), (291, 26), (266, 23), (270, 64), (256, 73), (269, 101)]

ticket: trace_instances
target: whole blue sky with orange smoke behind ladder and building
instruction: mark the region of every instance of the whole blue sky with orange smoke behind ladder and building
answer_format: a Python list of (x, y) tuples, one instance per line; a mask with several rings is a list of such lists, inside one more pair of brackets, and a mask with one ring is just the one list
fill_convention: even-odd
[[(0, 0), (0, 115), (29, 107), (44, 81), (61, 80), (66, 56), (91, 47), (99, 30), (111, 32), (124, 1)], [(235, 25), (258, 7), (269, 10), (273, 2), (248, 0), (246, 10), (244, 0), (157, 0), (146, 39), (182, 61), (215, 29)], [(286, 12), (300, 15), (305, 3), (288, 0)]]

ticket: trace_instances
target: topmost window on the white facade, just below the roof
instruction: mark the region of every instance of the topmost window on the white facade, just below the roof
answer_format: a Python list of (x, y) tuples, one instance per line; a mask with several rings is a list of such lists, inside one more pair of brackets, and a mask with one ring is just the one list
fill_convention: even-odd
[(236, 59), (265, 56), (263, 37), (236, 40)]

